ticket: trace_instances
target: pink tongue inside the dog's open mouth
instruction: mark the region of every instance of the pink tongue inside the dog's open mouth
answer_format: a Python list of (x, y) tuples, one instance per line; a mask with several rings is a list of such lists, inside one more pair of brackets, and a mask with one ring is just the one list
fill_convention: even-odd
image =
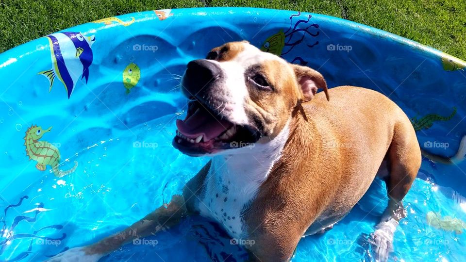
[(232, 124), (226, 120), (218, 120), (209, 112), (199, 109), (185, 120), (176, 120), (176, 127), (183, 135), (196, 139), (204, 135), (204, 141), (211, 140), (227, 129)]

